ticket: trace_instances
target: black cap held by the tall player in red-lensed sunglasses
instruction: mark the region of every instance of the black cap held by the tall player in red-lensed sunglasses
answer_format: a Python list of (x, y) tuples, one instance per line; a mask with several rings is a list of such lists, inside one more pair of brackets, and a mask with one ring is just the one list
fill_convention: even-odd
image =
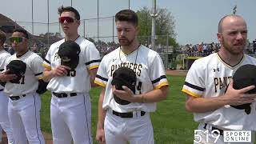
[(76, 42), (63, 42), (58, 49), (58, 56), (62, 59), (61, 65), (74, 70), (78, 66), (80, 51), (80, 46)]

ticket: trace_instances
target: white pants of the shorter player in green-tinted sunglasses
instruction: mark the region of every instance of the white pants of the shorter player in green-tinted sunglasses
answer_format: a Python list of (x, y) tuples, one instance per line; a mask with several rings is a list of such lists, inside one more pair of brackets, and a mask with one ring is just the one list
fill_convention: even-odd
[(40, 130), (41, 100), (38, 94), (26, 94), (18, 100), (9, 99), (8, 114), (15, 144), (45, 144)]

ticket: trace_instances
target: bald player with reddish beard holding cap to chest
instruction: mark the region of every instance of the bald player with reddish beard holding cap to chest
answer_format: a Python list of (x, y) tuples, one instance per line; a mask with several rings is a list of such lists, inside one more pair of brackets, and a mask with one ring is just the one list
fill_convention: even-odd
[[(205, 130), (210, 130), (209, 133), (211, 130), (220, 132), (218, 144), (224, 143), (223, 130), (256, 130), (256, 94), (246, 94), (255, 86), (235, 90), (232, 80), (238, 67), (256, 64), (255, 58), (243, 54), (247, 40), (245, 20), (234, 14), (223, 17), (218, 24), (217, 36), (221, 44), (218, 53), (196, 60), (182, 88), (187, 97), (186, 110), (194, 112), (194, 121), (199, 122), (198, 129), (202, 130), (198, 133), (202, 136), (199, 143), (207, 143), (207, 140), (214, 142), (210, 134), (203, 133)], [(230, 106), (250, 102), (250, 114)]]

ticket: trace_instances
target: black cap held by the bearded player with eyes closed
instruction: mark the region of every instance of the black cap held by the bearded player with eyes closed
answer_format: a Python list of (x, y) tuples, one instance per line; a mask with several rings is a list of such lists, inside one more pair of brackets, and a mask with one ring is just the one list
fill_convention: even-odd
[[(117, 90), (123, 90), (122, 86), (127, 86), (135, 94), (136, 80), (137, 78), (134, 70), (131, 70), (127, 67), (120, 67), (118, 68), (118, 70), (114, 71), (113, 80), (111, 84), (114, 85)], [(114, 101), (120, 105), (127, 105), (130, 103), (126, 100), (118, 98), (115, 94)]]

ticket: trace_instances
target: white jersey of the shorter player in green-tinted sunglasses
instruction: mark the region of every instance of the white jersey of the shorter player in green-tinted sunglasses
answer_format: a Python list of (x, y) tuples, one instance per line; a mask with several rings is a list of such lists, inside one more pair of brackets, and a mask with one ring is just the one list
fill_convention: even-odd
[(42, 71), (44, 69), (42, 66), (42, 58), (38, 54), (28, 50), (20, 57), (17, 57), (16, 54), (10, 56), (6, 62), (6, 66), (12, 60), (21, 60), (22, 62), (25, 62), (26, 72), (20, 79), (20, 83), (6, 82), (6, 94), (11, 97), (35, 93), (36, 90), (38, 90), (38, 79), (42, 79)]

